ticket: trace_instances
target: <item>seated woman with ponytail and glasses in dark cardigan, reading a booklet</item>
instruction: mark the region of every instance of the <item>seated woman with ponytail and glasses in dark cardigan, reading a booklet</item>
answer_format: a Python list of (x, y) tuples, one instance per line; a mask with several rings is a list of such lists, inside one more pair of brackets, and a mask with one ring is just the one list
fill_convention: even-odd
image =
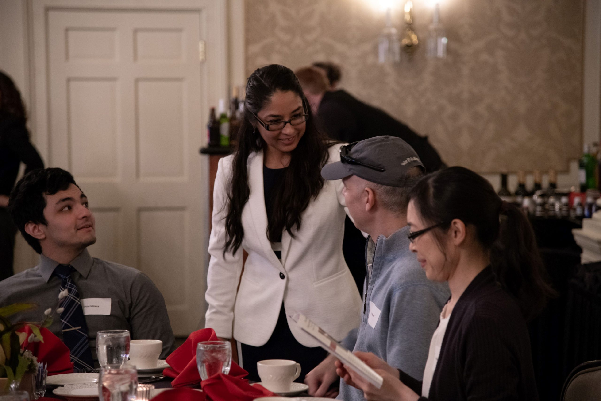
[(430, 342), (423, 382), (372, 354), (377, 389), (346, 366), (338, 374), (367, 400), (538, 400), (526, 320), (552, 294), (532, 227), (487, 180), (462, 167), (421, 180), (410, 195), (409, 248), (451, 298)]

